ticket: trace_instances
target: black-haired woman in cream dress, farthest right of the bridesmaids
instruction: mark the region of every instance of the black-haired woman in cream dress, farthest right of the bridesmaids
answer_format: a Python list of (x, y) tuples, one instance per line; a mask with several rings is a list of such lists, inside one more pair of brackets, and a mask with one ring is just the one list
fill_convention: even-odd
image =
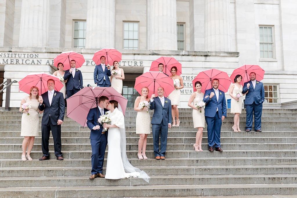
[[(234, 116), (234, 125), (232, 126), (232, 130), (234, 132), (241, 132), (239, 128), (239, 115), (241, 114), (242, 109), (242, 100), (240, 98), (236, 98), (236, 93), (242, 93), (242, 85), (240, 84), (242, 80), (241, 75), (236, 75), (234, 79), (234, 83), (231, 84), (229, 89), (229, 95), (231, 96), (231, 114), (235, 114)], [(245, 93), (247, 94), (247, 93)], [(243, 94), (243, 95), (245, 95)]]

